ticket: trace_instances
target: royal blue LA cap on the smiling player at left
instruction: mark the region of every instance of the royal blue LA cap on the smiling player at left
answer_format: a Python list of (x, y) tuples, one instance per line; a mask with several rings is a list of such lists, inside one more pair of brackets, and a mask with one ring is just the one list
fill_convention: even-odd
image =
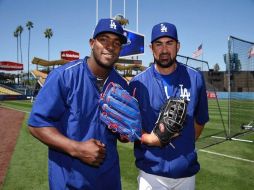
[(119, 36), (122, 44), (127, 43), (126, 33), (118, 21), (110, 18), (100, 19), (97, 26), (95, 27), (93, 39), (95, 39), (99, 34), (106, 32)]

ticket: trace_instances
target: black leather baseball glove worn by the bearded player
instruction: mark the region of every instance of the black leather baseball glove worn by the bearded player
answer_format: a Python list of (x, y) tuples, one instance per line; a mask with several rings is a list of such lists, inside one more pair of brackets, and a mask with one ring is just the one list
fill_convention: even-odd
[(170, 98), (162, 106), (155, 123), (153, 133), (160, 140), (161, 146), (170, 144), (172, 138), (183, 129), (187, 111), (187, 100)]

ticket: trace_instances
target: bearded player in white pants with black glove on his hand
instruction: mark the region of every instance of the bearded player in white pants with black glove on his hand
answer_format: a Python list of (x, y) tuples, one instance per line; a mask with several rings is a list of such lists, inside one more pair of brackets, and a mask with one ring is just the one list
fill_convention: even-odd
[(195, 174), (200, 170), (195, 140), (209, 120), (204, 79), (200, 72), (176, 60), (180, 42), (175, 25), (155, 25), (150, 48), (154, 64), (130, 82), (131, 89), (136, 88), (142, 129), (152, 132), (167, 99), (182, 98), (188, 106), (181, 133), (168, 145), (162, 147), (158, 140), (145, 136), (142, 143), (135, 142), (139, 189), (194, 190)]

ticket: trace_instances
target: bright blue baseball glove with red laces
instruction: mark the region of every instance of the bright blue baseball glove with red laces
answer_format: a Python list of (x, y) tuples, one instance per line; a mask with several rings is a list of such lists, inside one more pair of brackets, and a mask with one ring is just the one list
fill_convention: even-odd
[(138, 101), (119, 84), (110, 82), (100, 98), (101, 120), (108, 128), (128, 141), (141, 136), (141, 115)]

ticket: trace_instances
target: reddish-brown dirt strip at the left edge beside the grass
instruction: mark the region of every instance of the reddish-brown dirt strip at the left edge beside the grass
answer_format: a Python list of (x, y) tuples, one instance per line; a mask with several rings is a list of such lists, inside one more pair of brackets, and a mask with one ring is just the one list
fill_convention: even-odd
[(24, 118), (23, 112), (0, 107), (0, 188)]

